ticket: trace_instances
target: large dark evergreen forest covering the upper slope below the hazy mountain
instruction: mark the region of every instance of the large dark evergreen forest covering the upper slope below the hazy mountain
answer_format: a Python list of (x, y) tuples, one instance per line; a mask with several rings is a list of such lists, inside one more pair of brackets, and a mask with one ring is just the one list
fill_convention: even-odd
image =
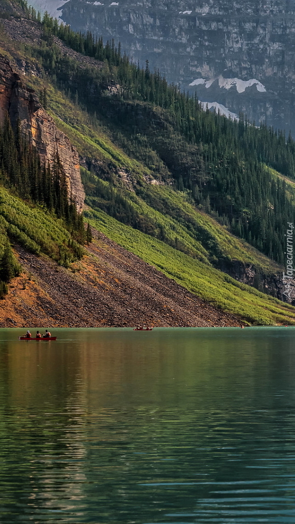
[[(163, 178), (168, 173), (174, 187), (189, 191), (200, 209), (270, 258), (283, 262), (285, 224), (295, 220), (294, 206), (286, 182), (269, 168), (295, 178), (291, 136), (266, 125), (257, 127), (243, 114), (231, 121), (203, 110), (196, 96), (168, 85), (159, 71), (150, 71), (148, 61), (144, 67), (133, 63), (114, 41), (103, 45), (101, 38), (74, 32), (48, 14), (42, 25), (48, 46), (34, 52), (60, 89), (107, 123), (114, 141), (124, 145), (127, 154), (145, 161), (147, 149), (151, 150), (157, 165), (163, 166)], [(101, 66), (79, 68), (52, 45), (51, 35), (100, 60)], [(108, 85), (122, 89), (110, 96)], [(124, 199), (118, 212), (113, 196), (108, 200), (101, 191), (102, 199), (108, 201), (107, 212), (141, 227)], [(146, 221), (141, 222), (146, 230)]]

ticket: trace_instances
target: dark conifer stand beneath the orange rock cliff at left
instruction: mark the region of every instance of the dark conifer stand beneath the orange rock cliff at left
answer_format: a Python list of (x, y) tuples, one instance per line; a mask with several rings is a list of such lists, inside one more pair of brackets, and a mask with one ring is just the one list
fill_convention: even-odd
[[(71, 233), (65, 246), (75, 258), (83, 256), (81, 244), (91, 242), (91, 232), (85, 232), (83, 215), (77, 212), (69, 198), (64, 169), (58, 154), (51, 163), (41, 162), (34, 146), (20, 131), (19, 123), (13, 130), (8, 113), (0, 125), (0, 184), (25, 201), (40, 205), (63, 221)], [(60, 252), (60, 262), (65, 262)], [(64, 260), (63, 260), (64, 259)], [(8, 237), (0, 256), (0, 298), (7, 292), (7, 283), (19, 274), (20, 266), (13, 256)]]

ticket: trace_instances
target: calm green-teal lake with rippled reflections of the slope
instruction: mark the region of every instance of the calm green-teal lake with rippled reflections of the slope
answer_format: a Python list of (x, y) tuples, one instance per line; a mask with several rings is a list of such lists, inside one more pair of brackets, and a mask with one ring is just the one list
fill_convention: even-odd
[(23, 333), (0, 330), (2, 524), (294, 524), (295, 328)]

